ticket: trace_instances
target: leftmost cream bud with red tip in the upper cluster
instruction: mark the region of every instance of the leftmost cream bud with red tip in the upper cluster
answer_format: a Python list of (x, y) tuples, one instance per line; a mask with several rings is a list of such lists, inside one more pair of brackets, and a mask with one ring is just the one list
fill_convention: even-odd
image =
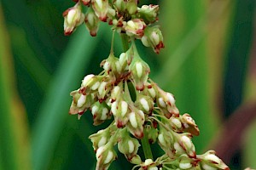
[(72, 8), (68, 8), (62, 14), (64, 17), (64, 34), (69, 36), (75, 31), (75, 29), (80, 26), (84, 21), (84, 14), (80, 3), (77, 3)]

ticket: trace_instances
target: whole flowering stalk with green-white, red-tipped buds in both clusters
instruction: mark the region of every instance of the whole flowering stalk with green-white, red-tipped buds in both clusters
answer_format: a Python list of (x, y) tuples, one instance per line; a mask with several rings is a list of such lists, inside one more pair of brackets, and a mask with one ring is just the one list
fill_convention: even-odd
[[(76, 0), (64, 13), (64, 34), (70, 35), (82, 23), (95, 37), (100, 22), (108, 22), (122, 37), (124, 52), (116, 57), (112, 48), (101, 63), (103, 71), (84, 77), (81, 87), (71, 93), (69, 113), (80, 118), (90, 109), (94, 125), (110, 119), (105, 129), (90, 135), (96, 151), (96, 169), (108, 169), (117, 158), (113, 146), (135, 164), (133, 169), (230, 169), (213, 150), (197, 155), (191, 139), (199, 135), (193, 118), (181, 115), (173, 94), (162, 90), (149, 76), (150, 68), (137, 52), (136, 40), (153, 48), (164, 48), (158, 21), (159, 6), (138, 7), (137, 0)], [(87, 7), (84, 13), (84, 7)], [(154, 159), (150, 144), (165, 151)], [(145, 160), (137, 154), (143, 146)]]

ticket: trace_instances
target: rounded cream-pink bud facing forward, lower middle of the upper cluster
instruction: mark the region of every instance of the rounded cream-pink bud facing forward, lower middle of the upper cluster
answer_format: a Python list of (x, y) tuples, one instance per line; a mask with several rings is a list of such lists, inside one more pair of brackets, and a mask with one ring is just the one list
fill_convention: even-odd
[(130, 37), (135, 36), (135, 37), (143, 37), (143, 31), (146, 27), (146, 24), (144, 23), (143, 20), (139, 19), (133, 19), (129, 20), (125, 26), (125, 31), (126, 34)]

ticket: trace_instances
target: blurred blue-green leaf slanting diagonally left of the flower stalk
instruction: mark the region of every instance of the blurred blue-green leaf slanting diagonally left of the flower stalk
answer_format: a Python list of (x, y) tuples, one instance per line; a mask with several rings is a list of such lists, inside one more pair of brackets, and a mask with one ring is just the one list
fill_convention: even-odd
[(32, 132), (33, 170), (45, 169), (52, 159), (55, 144), (65, 126), (71, 98), (69, 92), (79, 87), (83, 79), (83, 68), (90, 65), (90, 58), (101, 40), (101, 27), (96, 38), (90, 37), (84, 27), (75, 32), (68, 44), (63, 60), (55, 73), (53, 82), (39, 111), (37, 123)]

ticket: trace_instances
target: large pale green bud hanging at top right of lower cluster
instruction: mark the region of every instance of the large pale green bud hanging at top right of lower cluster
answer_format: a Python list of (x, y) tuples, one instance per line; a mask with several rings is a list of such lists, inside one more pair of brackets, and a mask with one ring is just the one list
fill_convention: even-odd
[(150, 72), (149, 66), (143, 59), (133, 59), (129, 66), (131, 72), (131, 78), (134, 82), (136, 89), (143, 91), (145, 83), (148, 80), (148, 74)]

